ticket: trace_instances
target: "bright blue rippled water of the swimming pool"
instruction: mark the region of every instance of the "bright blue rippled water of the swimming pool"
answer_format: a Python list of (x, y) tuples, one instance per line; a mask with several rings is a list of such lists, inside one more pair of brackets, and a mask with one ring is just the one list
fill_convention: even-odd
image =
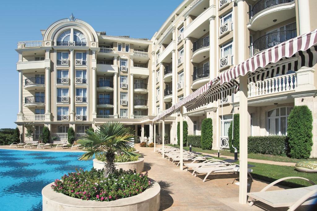
[(81, 154), (0, 149), (0, 210), (42, 210), (45, 185), (76, 168), (92, 168), (92, 161), (77, 160)]

